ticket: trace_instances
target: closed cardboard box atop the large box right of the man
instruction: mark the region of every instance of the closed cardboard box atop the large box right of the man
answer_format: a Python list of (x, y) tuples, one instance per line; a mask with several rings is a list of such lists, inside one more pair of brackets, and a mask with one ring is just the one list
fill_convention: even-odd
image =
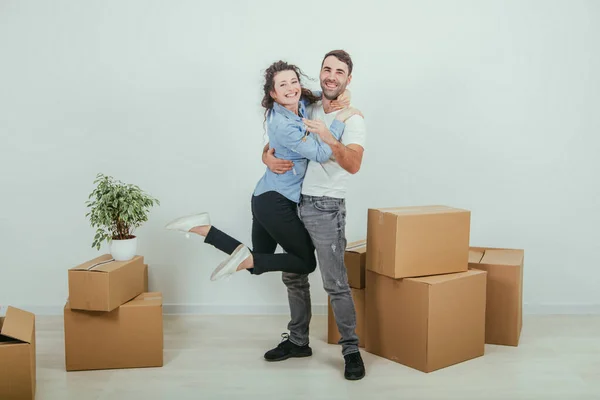
[(471, 212), (446, 206), (369, 209), (367, 269), (391, 278), (468, 270)]

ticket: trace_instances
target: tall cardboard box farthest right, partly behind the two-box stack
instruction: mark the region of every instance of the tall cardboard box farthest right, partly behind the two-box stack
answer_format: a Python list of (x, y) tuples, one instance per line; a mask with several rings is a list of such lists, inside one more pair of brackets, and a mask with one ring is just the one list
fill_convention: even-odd
[(523, 327), (524, 250), (471, 247), (469, 268), (487, 271), (485, 342), (518, 346)]

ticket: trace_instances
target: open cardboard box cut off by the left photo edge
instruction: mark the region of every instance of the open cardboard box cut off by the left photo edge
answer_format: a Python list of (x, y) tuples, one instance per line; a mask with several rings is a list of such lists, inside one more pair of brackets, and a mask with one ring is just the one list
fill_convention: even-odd
[(0, 317), (0, 399), (34, 399), (35, 315), (8, 307)]

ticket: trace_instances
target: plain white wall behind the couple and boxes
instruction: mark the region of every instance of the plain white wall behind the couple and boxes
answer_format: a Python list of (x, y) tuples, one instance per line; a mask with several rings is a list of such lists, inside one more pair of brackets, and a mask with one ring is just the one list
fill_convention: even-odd
[(224, 255), (163, 227), (210, 211), (249, 243), (262, 72), (286, 59), (315, 88), (344, 48), (368, 127), (348, 239), (368, 207), (465, 207), (472, 244), (526, 250), (528, 310), (600, 312), (598, 17), (594, 1), (4, 0), (0, 304), (60, 312), (67, 269), (98, 255), (84, 202), (103, 172), (162, 201), (139, 251), (170, 310), (285, 313), (279, 274), (210, 282)]

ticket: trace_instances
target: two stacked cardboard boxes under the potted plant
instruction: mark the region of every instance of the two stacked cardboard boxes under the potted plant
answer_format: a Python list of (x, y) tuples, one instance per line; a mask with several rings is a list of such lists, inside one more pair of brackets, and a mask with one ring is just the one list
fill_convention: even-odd
[(144, 258), (71, 268), (64, 329), (67, 371), (161, 367), (162, 295), (148, 292)]

